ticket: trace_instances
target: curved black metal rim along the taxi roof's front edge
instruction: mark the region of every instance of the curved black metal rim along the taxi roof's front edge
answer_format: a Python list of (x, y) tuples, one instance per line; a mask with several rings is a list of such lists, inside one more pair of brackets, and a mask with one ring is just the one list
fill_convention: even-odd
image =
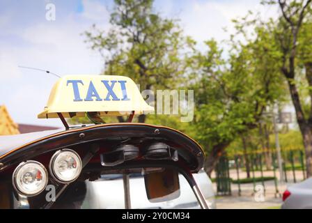
[[(83, 135), (82, 135), (83, 134)], [(1, 171), (8, 166), (18, 164), (26, 159), (31, 159), (42, 153), (56, 151), (61, 148), (67, 148), (82, 143), (91, 143), (98, 140), (107, 139), (107, 137), (141, 137), (142, 139), (150, 138), (155, 141), (164, 140), (173, 141), (180, 145), (178, 153), (185, 157), (188, 168), (192, 172), (197, 172), (203, 167), (204, 155), (201, 148), (195, 141), (176, 130), (166, 127), (140, 124), (111, 124), (111, 125), (94, 125), (89, 128), (79, 128), (59, 132), (48, 139), (40, 139), (32, 144), (22, 146), (3, 157), (0, 162), (3, 163)], [(9, 152), (9, 151), (8, 151)], [(0, 171), (0, 173), (1, 173)]]

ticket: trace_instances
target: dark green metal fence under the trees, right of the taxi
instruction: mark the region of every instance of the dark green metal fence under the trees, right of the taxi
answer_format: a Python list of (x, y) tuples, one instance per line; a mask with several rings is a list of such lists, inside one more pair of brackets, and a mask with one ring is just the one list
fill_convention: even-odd
[[(282, 151), (282, 181), (297, 183), (306, 178), (305, 157), (301, 150)], [(281, 196), (282, 183), (276, 151), (256, 151), (256, 153), (223, 155), (220, 157), (212, 180), (217, 185), (217, 195), (233, 193), (253, 194), (256, 185), (262, 185), (264, 193)]]

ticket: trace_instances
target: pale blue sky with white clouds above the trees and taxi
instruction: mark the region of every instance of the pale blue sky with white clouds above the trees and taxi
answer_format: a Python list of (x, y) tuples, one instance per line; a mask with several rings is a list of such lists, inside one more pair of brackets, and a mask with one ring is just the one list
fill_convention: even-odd
[[(46, 18), (51, 3), (55, 20)], [(81, 33), (92, 24), (108, 30), (113, 6), (112, 0), (0, 1), (0, 105), (6, 105), (16, 123), (62, 126), (58, 119), (37, 118), (58, 77), (19, 66), (60, 76), (99, 75), (104, 61)], [(278, 13), (277, 8), (261, 6), (260, 0), (155, 0), (154, 6), (162, 16), (180, 20), (185, 34), (199, 44), (228, 38), (231, 20), (248, 10), (265, 17)]]

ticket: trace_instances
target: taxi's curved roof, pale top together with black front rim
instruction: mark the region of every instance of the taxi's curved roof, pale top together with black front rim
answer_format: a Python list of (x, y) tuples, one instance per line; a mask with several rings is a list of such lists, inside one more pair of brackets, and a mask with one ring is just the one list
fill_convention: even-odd
[[(143, 143), (152, 140), (156, 142), (166, 141), (173, 145), (192, 172), (197, 172), (203, 167), (205, 158), (201, 146), (186, 134), (166, 126), (146, 123), (98, 124), (70, 130), (50, 130), (1, 138), (1, 169), (15, 164), (15, 162), (31, 159), (38, 154), (60, 148), (96, 143), (97, 141), (100, 143), (103, 140), (125, 141), (125, 139), (129, 139), (129, 143), (135, 144), (137, 143), (135, 141), (140, 138), (144, 139)], [(13, 141), (15, 142), (13, 143)]]

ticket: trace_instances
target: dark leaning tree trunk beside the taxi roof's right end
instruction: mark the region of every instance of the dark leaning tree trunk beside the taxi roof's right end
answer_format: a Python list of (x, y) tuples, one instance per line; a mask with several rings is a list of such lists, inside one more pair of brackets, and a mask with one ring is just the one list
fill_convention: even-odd
[(228, 144), (230, 144), (230, 142), (217, 144), (212, 147), (212, 151), (209, 153), (209, 155), (206, 155), (204, 169), (208, 176), (210, 176), (212, 171), (214, 171), (219, 157), (221, 157), (221, 155), (224, 153), (224, 150), (226, 149)]

